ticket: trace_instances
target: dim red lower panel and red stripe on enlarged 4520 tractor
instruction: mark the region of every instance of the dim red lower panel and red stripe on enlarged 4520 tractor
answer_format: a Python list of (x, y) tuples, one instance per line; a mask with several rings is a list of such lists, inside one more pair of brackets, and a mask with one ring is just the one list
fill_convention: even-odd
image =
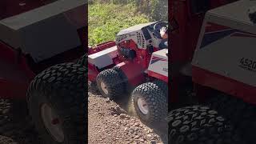
[[(216, 34), (223, 30), (234, 30), (227, 26), (220, 26), (211, 22), (206, 23), (205, 34)], [(256, 38), (255, 34), (250, 34), (246, 32), (240, 32), (234, 30), (234, 33), (230, 34), (230, 37), (247, 37)], [(192, 66), (193, 82), (195, 85), (201, 85), (201, 89), (209, 87), (213, 90), (222, 91), (225, 94), (230, 94), (237, 98), (242, 98), (243, 101), (256, 104), (256, 88), (250, 86), (246, 83), (238, 82), (232, 78), (227, 78), (220, 74), (214, 74), (209, 70), (203, 70), (198, 66)], [(208, 89), (209, 90), (209, 89)], [(198, 96), (203, 97), (203, 94), (198, 94)]]

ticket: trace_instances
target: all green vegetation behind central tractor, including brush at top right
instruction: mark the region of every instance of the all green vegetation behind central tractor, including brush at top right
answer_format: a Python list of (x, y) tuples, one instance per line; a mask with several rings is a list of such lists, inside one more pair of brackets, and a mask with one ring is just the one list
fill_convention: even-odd
[(90, 0), (89, 46), (114, 40), (120, 30), (130, 26), (166, 20), (168, 9), (164, 6), (167, 6), (167, 2), (167, 0)]

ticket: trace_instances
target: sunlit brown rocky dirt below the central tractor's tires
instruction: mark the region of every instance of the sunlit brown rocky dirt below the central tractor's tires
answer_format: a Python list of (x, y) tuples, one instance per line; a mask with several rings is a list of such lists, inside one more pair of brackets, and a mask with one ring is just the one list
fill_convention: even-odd
[(129, 99), (113, 102), (94, 88), (88, 94), (88, 143), (166, 143), (166, 126), (143, 124)]

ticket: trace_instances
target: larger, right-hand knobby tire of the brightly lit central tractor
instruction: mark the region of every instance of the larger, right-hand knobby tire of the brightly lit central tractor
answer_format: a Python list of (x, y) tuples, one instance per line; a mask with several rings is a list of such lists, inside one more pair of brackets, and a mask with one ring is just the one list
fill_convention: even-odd
[[(147, 123), (162, 122), (167, 116), (167, 95), (158, 83), (146, 82), (137, 86), (132, 92), (134, 110), (138, 117)], [(139, 99), (146, 102), (148, 112), (142, 112), (138, 106)]]

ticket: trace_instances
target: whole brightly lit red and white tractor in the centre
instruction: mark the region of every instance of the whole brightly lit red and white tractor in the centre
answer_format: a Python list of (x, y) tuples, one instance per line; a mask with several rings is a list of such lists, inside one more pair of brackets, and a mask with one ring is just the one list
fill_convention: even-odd
[(132, 90), (134, 109), (144, 122), (158, 122), (167, 114), (168, 50), (160, 34), (167, 26), (163, 21), (131, 26), (121, 30), (115, 42), (88, 52), (90, 82), (110, 99)]

